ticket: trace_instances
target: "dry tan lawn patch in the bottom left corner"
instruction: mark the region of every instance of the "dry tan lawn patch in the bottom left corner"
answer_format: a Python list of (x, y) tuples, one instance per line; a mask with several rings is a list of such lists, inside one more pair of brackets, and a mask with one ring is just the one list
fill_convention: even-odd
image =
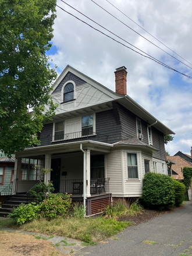
[(1, 256), (60, 256), (51, 244), (29, 234), (0, 231)]

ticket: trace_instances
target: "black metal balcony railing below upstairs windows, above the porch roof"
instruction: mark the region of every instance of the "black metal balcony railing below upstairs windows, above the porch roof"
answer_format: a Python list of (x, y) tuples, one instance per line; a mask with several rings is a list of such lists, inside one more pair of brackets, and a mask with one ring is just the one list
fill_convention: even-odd
[[(34, 147), (41, 147), (46, 145), (54, 145), (61, 143), (69, 143), (73, 141), (84, 141), (84, 140), (93, 140), (103, 143), (108, 143), (108, 136), (101, 133), (95, 133), (94, 131), (76, 131), (74, 133), (65, 133), (60, 135), (52, 136), (48, 134), (46, 137), (40, 137), (40, 145), (34, 145)], [(31, 147), (31, 146), (30, 146)]]

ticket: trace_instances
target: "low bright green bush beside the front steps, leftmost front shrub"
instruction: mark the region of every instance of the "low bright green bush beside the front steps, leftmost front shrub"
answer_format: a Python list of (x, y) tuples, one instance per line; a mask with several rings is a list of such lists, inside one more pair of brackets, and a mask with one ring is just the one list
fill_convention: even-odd
[(22, 225), (25, 222), (29, 222), (32, 219), (38, 219), (40, 214), (40, 206), (31, 204), (21, 204), (15, 208), (12, 214), (8, 215), (8, 218), (13, 218), (17, 225)]

